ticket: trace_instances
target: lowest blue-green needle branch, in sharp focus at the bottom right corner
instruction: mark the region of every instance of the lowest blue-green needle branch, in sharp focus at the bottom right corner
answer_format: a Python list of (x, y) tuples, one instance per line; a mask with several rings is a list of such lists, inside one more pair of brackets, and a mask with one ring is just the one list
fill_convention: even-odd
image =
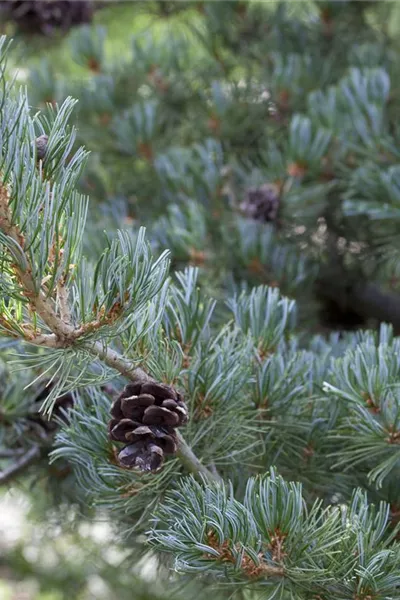
[(344, 589), (349, 598), (372, 598), (356, 593), (360, 573), (365, 589), (372, 580), (382, 597), (398, 585), (399, 548), (387, 550), (397, 531), (387, 507), (368, 504), (361, 490), (349, 507), (323, 509), (317, 501), (307, 510), (301, 484), (273, 468), (247, 481), (243, 502), (228, 486), (192, 478), (177, 488), (158, 506), (150, 543), (174, 554), (180, 573), (251, 582), (271, 598), (277, 591), (293, 597), (297, 589), (305, 592), (299, 598), (344, 597)]

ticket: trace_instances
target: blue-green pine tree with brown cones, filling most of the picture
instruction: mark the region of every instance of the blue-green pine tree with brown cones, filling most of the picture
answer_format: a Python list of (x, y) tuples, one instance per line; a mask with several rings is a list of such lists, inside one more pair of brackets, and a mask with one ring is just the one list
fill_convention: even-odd
[(135, 2), (28, 95), (2, 39), (0, 482), (163, 597), (400, 597), (395, 7), (288, 4)]

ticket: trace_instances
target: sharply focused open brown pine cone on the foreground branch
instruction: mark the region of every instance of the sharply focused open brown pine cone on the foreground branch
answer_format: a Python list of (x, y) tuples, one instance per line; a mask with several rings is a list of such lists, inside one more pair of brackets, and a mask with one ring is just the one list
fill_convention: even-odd
[(128, 384), (111, 406), (109, 436), (128, 443), (118, 454), (124, 467), (157, 471), (164, 455), (175, 454), (175, 428), (187, 423), (188, 410), (181, 395), (158, 383)]

